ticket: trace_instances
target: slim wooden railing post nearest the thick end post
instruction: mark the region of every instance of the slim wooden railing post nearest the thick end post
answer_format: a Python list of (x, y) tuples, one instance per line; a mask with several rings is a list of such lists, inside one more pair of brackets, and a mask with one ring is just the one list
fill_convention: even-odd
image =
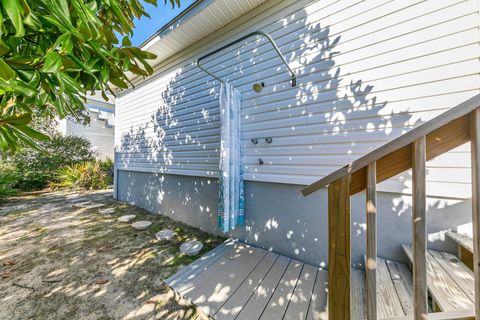
[(367, 166), (367, 319), (377, 319), (377, 163)]

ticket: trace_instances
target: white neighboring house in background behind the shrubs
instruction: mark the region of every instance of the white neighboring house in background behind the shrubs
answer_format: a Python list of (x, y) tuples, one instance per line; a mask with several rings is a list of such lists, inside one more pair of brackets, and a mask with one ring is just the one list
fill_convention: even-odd
[(63, 135), (75, 135), (86, 138), (92, 144), (99, 159), (114, 158), (115, 141), (115, 104), (114, 98), (104, 101), (100, 96), (92, 95), (85, 104), (90, 122), (86, 125), (72, 118), (59, 120), (58, 129)]

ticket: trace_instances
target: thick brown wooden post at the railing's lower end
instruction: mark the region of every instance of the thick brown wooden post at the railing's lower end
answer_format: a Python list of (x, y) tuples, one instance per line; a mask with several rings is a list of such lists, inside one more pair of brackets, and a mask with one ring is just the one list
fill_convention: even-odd
[(328, 319), (350, 320), (350, 174), (328, 186)]

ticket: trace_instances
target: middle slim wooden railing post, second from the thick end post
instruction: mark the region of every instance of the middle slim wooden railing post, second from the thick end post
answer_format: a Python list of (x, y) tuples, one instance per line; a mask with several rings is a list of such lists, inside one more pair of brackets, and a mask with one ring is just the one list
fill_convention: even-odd
[(414, 318), (428, 318), (427, 294), (427, 215), (426, 215), (426, 139), (418, 138), (412, 150), (413, 173), (413, 295)]

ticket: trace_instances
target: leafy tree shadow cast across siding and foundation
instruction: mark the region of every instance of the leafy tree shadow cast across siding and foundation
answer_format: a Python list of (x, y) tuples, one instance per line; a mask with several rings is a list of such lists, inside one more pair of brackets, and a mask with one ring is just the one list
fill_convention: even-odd
[[(311, 150), (319, 150), (318, 155), (341, 152), (345, 156), (359, 157), (419, 124), (420, 120), (412, 123), (408, 108), (401, 113), (392, 111), (385, 115), (388, 102), (377, 101), (372, 94), (373, 86), (361, 79), (351, 80), (342, 72), (342, 66), (335, 63), (335, 56), (340, 54), (336, 47), (342, 41), (341, 35), (331, 36), (328, 26), (308, 23), (306, 18), (298, 19), (296, 14), (274, 24), (278, 28), (271, 34), (289, 64), (294, 66), (297, 87), (290, 86), (286, 68), (262, 39), (233, 46), (205, 63), (206, 68), (230, 81), (242, 93), (242, 152), (249, 180), (261, 181), (262, 175), (278, 174), (276, 170), (288, 169), (289, 165), (300, 161), (307, 161), (301, 163), (304, 169), (298, 170), (305, 171), (298, 172), (300, 175), (328, 174), (345, 163), (338, 163), (338, 159), (331, 157), (323, 168), (308, 163), (300, 155), (311, 155)], [(291, 38), (294, 40), (289, 40)], [(276, 61), (273, 67), (272, 61)], [(262, 93), (253, 93), (251, 86), (259, 81), (268, 85)], [(218, 92), (218, 82), (192, 64), (175, 72), (162, 91), (163, 106), (151, 114), (149, 121), (132, 125), (122, 133), (116, 156), (118, 166), (133, 171), (147, 168), (156, 173), (122, 172), (120, 199), (203, 230), (218, 232)], [(279, 119), (287, 119), (288, 125)], [(312, 127), (318, 128), (313, 136)], [(264, 149), (252, 146), (250, 139), (262, 136), (263, 132), (274, 132), (275, 140), (295, 146), (295, 155), (279, 152), (272, 160), (265, 156), (265, 165), (257, 165), (256, 159)], [(353, 141), (368, 135), (375, 138), (369, 139), (370, 144), (363, 149), (361, 143)], [(304, 137), (309, 139), (302, 140)], [(329, 139), (334, 138), (343, 141), (341, 151), (338, 146), (330, 147)], [(296, 168), (299, 167), (290, 166), (289, 170)], [(321, 191), (320, 195), (303, 198), (300, 189), (294, 185), (248, 182), (246, 226), (236, 230), (234, 235), (303, 261), (326, 264), (326, 193)], [(408, 199), (389, 193), (380, 196), (379, 253), (384, 257), (402, 259), (400, 244), (410, 242), (411, 204)], [(363, 194), (352, 199), (352, 251), (359, 265), (365, 252), (364, 202)], [(439, 232), (468, 223), (458, 217), (443, 219), (455, 212), (456, 207), (463, 209), (465, 206), (463, 201), (453, 205), (442, 199), (429, 201), (429, 233), (434, 247), (443, 243)]]

